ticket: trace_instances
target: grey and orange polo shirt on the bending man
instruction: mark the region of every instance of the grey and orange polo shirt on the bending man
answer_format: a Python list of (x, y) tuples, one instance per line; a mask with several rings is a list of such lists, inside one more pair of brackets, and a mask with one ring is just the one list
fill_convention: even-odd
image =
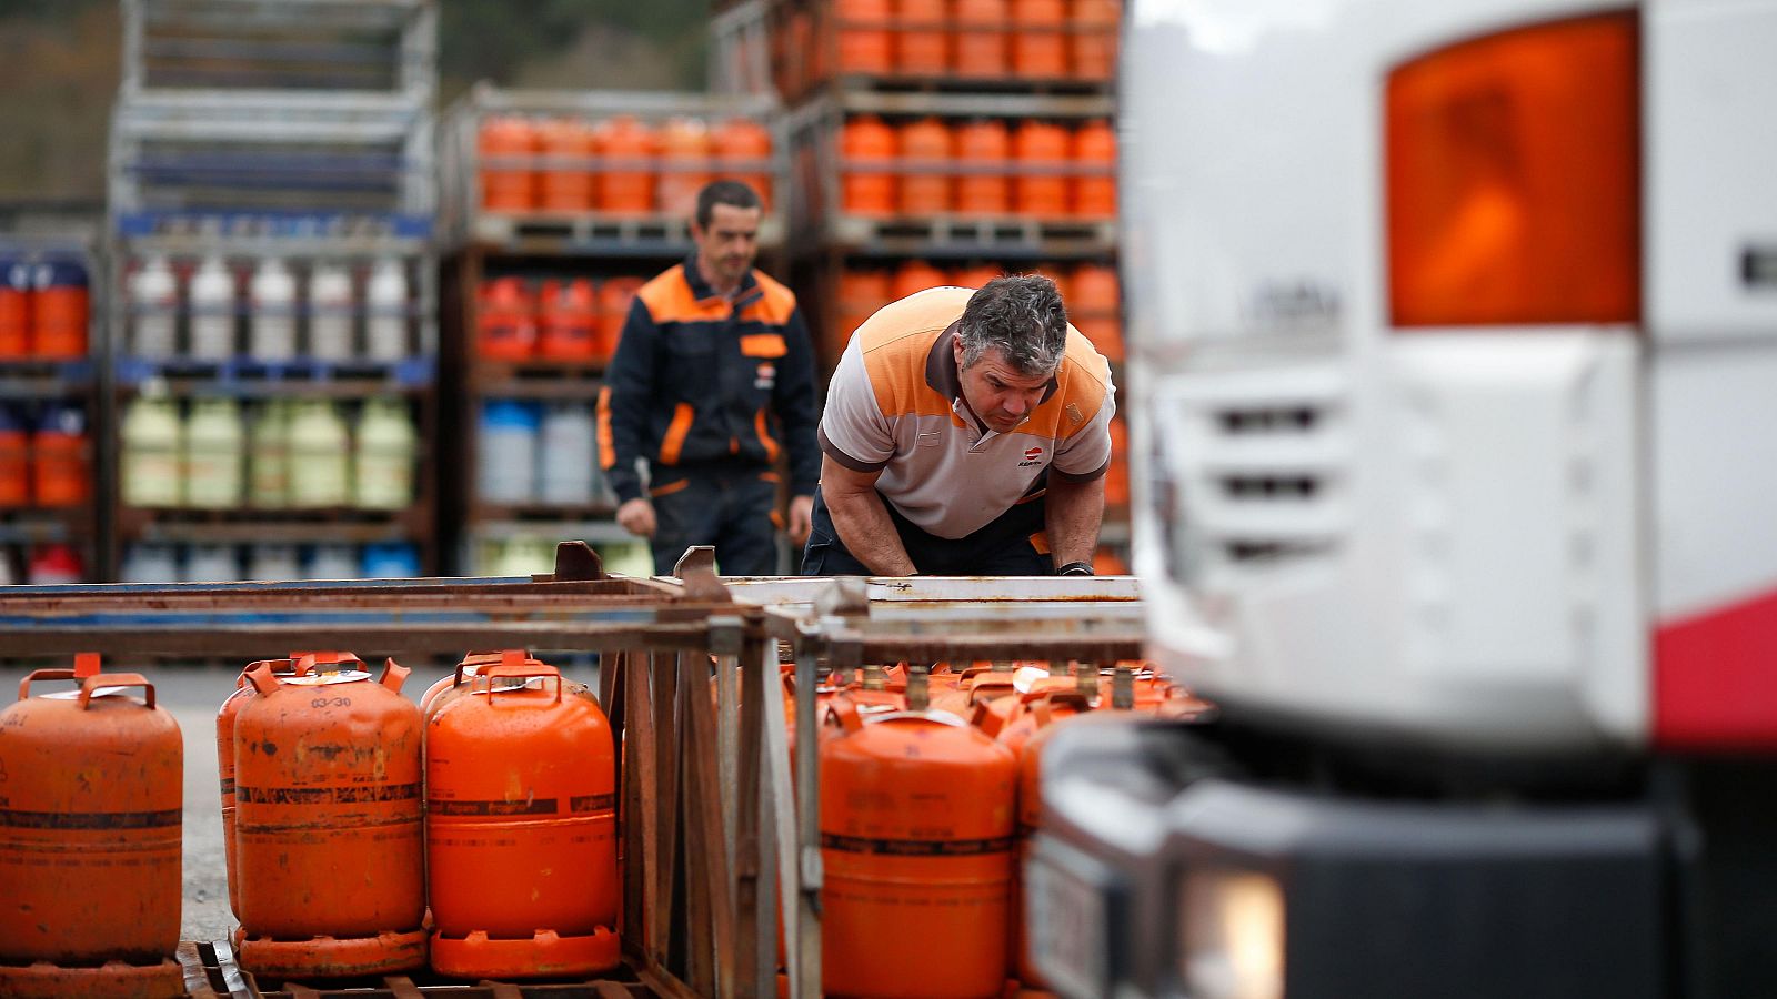
[(1043, 400), (1016, 430), (988, 430), (963, 402), (956, 322), (974, 295), (931, 288), (883, 306), (851, 334), (826, 388), (821, 450), (860, 473), (926, 533), (967, 537), (1041, 492), (1045, 469), (1089, 482), (1111, 464), (1116, 388), (1080, 331)]

